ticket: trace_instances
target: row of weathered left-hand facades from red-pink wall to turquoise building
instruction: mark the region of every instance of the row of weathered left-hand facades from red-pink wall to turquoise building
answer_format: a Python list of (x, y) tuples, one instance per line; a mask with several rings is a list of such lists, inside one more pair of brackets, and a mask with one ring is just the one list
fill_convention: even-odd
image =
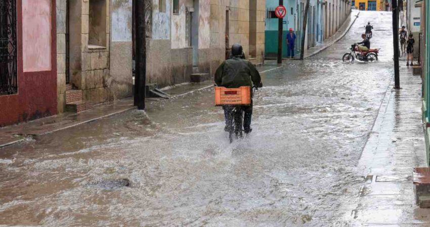
[[(0, 127), (133, 95), (134, 0), (0, 2)], [(147, 0), (147, 83), (264, 62), (265, 0)], [(40, 35), (49, 34), (49, 35)]]

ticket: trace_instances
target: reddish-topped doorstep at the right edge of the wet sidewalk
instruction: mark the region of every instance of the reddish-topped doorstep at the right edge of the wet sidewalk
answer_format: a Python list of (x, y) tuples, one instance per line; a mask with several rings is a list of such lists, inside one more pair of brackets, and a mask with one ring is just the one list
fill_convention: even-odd
[(416, 204), (421, 208), (430, 208), (430, 168), (414, 168), (413, 184)]

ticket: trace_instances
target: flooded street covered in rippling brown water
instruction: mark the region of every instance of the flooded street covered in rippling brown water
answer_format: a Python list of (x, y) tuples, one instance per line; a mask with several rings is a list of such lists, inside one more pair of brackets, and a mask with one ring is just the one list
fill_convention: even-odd
[[(379, 61), (343, 63), (368, 21)], [(205, 89), (0, 149), (0, 224), (348, 226), (392, 58), (391, 13), (362, 12), (333, 46), (262, 74), (243, 140)]]

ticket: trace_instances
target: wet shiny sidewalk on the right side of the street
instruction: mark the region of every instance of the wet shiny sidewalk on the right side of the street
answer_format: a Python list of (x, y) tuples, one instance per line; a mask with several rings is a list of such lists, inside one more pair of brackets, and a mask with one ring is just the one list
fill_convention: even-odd
[(358, 164), (366, 180), (353, 226), (430, 226), (430, 211), (415, 204), (412, 184), (413, 168), (426, 166), (421, 78), (401, 65), (402, 89), (392, 89), (394, 80), (388, 87)]

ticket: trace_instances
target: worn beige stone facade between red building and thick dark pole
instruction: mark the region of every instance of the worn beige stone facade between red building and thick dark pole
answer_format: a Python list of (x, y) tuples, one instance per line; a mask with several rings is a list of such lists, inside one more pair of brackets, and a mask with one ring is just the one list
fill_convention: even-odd
[(57, 0), (57, 109), (132, 95), (132, 0)]

